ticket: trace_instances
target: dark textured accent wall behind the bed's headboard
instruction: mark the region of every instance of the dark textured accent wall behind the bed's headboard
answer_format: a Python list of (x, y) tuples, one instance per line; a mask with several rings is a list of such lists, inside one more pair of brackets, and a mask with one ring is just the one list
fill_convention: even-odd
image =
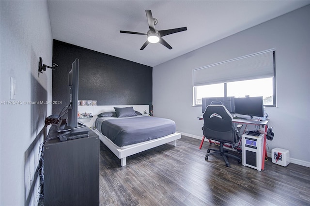
[[(122, 49), (122, 48), (120, 48)], [(68, 73), (79, 59), (79, 100), (97, 105), (152, 104), (152, 67), (53, 40), (52, 114), (68, 105)]]

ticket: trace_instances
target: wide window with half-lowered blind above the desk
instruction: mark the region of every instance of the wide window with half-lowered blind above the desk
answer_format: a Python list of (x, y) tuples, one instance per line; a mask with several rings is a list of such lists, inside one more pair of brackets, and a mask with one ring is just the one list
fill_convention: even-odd
[(193, 70), (194, 104), (202, 97), (263, 96), (264, 106), (276, 106), (275, 50)]

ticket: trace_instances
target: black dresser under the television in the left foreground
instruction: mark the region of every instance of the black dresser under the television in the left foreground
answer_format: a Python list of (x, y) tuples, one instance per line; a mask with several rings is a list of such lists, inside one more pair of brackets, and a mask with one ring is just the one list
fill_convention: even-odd
[[(44, 205), (99, 205), (99, 136), (60, 141), (50, 130), (44, 145)], [(53, 139), (54, 138), (54, 139)]]

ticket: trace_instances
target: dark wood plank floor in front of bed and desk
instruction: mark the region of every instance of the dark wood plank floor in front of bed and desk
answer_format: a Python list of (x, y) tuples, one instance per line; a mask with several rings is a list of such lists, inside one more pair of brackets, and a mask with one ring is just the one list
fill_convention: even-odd
[(182, 136), (176, 147), (169, 143), (132, 155), (121, 167), (100, 142), (100, 205), (310, 205), (310, 168), (282, 167), (269, 159), (265, 170), (257, 171), (233, 158), (226, 167), (218, 155), (205, 161), (209, 143), (201, 150), (199, 145), (200, 140)]

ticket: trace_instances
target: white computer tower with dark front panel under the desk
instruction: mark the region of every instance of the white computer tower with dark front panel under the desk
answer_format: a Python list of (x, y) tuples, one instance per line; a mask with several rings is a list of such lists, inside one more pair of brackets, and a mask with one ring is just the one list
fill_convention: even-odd
[(242, 164), (258, 171), (262, 170), (263, 159), (263, 134), (259, 136), (253, 136), (243, 134), (242, 135)]

